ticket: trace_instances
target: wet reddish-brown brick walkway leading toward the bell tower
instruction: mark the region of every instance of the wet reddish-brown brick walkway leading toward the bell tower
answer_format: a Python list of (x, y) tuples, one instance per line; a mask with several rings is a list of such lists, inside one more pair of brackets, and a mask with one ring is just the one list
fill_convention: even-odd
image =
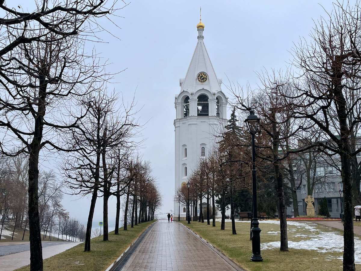
[(183, 225), (159, 220), (121, 270), (235, 271), (236, 269)]

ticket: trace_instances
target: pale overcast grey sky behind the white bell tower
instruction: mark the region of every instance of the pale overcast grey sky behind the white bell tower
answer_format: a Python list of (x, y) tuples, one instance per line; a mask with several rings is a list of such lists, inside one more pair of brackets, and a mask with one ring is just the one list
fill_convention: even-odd
[[(24, 10), (28, 1), (6, 0), (8, 6), (21, 4)], [(121, 2), (118, 4), (121, 7)], [(151, 161), (163, 194), (161, 213), (173, 208), (174, 96), (180, 91), (179, 78), (185, 76), (196, 46), (200, 7), (204, 43), (218, 78), (225, 84), (228, 77), (241, 86), (249, 82), (256, 87), (255, 72), (284, 68), (292, 59), (293, 43), (300, 37), (309, 40), (313, 20), (327, 16), (325, 10), (332, 11), (332, 1), (135, 0), (118, 11), (123, 18), (113, 17), (121, 29), (103, 23), (119, 39), (102, 33), (100, 37), (108, 43), (95, 44), (96, 51), (104, 60), (109, 59), (109, 72), (126, 69), (114, 78), (119, 83), (108, 87), (121, 91), (125, 101), (131, 100), (136, 90), (137, 107), (143, 106), (140, 123), (149, 120), (142, 131), (146, 141), (141, 152)], [(232, 98), (224, 85), (222, 90)], [(74, 199), (65, 197), (63, 205), (71, 216), (86, 223), (90, 200)], [(96, 224), (103, 220), (102, 202), (97, 202)], [(109, 221), (114, 221), (115, 206), (115, 199), (111, 199)]]

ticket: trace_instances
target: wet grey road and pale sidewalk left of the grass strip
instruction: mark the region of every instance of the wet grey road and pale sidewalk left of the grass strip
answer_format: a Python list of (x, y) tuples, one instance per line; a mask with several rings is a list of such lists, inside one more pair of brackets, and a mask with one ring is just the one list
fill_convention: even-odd
[[(80, 243), (81, 242), (42, 242), (43, 259), (52, 257), (53, 255), (61, 253)], [(27, 250), (24, 250), (25, 248), (27, 248)], [(11, 252), (15, 250), (21, 252)], [(9, 254), (4, 255), (4, 253)], [(17, 268), (28, 265), (30, 264), (29, 242), (1, 242), (0, 255), (3, 255), (0, 256), (1, 271), (13, 271)]]

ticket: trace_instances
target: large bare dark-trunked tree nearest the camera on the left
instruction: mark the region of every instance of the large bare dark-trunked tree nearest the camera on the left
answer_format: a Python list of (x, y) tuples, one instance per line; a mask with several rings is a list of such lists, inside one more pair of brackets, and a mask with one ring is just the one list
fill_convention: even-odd
[[(37, 1), (34, 12), (7, 8), (1, 21), (1, 151), (29, 155), (30, 270), (43, 270), (38, 213), (39, 154), (57, 145), (56, 132), (75, 125), (73, 100), (87, 92), (99, 68), (81, 48), (94, 36), (94, 18), (112, 11), (106, 1)], [(46, 17), (46, 20), (43, 18)], [(90, 30), (90, 31), (88, 31)], [(86, 33), (88, 31), (88, 33)], [(93, 32), (94, 33), (94, 32)], [(84, 34), (83, 36), (81, 34)], [(6, 40), (7, 39), (7, 40)], [(57, 111), (57, 112), (56, 112)], [(56, 113), (55, 113), (56, 112)], [(9, 146), (17, 146), (12, 152)]]

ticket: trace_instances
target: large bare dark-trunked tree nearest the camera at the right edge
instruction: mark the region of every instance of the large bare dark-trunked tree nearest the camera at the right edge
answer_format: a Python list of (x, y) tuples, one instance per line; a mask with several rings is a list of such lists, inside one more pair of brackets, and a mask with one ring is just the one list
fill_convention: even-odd
[[(295, 115), (306, 118), (322, 132), (320, 148), (339, 156), (344, 193), (343, 270), (355, 270), (352, 165), (361, 151), (355, 144), (360, 122), (360, 5), (336, 3), (334, 12), (321, 18), (310, 43), (294, 48), (297, 80), (303, 104)], [(295, 80), (296, 81), (296, 80)], [(359, 176), (358, 176), (359, 178)], [(359, 181), (359, 180), (358, 180)], [(359, 184), (358, 184), (359, 185)], [(358, 186), (357, 185), (357, 186)]]

